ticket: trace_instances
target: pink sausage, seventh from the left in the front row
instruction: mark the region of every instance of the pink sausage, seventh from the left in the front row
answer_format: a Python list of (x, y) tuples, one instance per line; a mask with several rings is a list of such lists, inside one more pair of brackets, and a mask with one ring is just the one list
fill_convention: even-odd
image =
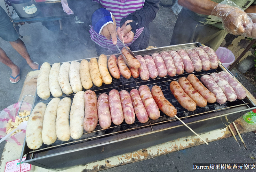
[(122, 109), (121, 99), (117, 90), (111, 90), (108, 93), (108, 104), (112, 122), (120, 125), (124, 121), (124, 113)]

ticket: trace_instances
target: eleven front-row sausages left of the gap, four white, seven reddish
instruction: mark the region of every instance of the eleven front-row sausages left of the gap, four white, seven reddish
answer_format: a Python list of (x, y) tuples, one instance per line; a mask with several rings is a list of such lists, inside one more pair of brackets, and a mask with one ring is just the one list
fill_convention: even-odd
[(156, 85), (151, 91), (142, 85), (139, 90), (131, 90), (130, 94), (126, 90), (111, 90), (108, 95), (101, 94), (98, 100), (92, 90), (79, 91), (72, 105), (69, 97), (61, 100), (55, 97), (47, 106), (42, 102), (36, 104), (31, 112), (26, 130), (27, 145), (30, 149), (37, 149), (43, 142), (47, 145), (54, 143), (57, 137), (62, 141), (68, 141), (70, 136), (79, 139), (84, 130), (91, 132), (96, 128), (98, 119), (103, 129), (107, 129), (111, 122), (120, 125), (125, 120), (132, 124), (135, 114), (139, 122), (146, 123), (148, 118), (159, 118), (158, 107), (170, 117), (177, 114)]

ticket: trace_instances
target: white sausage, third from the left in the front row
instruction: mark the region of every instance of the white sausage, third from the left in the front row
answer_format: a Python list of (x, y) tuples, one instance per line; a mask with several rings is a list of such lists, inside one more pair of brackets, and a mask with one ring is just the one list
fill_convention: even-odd
[(69, 112), (71, 99), (65, 97), (60, 100), (56, 117), (56, 135), (61, 141), (68, 141), (70, 138)]

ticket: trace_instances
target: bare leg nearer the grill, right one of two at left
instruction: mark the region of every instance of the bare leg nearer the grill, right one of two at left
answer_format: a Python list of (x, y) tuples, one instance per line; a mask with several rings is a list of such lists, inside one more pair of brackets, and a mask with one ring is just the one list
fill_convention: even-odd
[(27, 61), (28, 65), (32, 69), (38, 69), (38, 64), (34, 63), (34, 61), (30, 58), (28, 50), (20, 38), (18, 38), (16, 41), (10, 42), (10, 44)]

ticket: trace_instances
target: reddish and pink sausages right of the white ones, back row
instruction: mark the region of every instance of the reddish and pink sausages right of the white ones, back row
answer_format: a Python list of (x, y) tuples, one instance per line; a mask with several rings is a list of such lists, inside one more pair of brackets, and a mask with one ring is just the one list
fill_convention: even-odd
[[(128, 51), (124, 53), (124, 55), (127, 60), (132, 59), (132, 55), (129, 54)], [(130, 64), (136, 62), (136, 67), (138, 67), (139, 65), (137, 65), (137, 61), (139, 61), (139, 68), (129, 69), (125, 64), (122, 55), (120, 55), (118, 59), (116, 59), (115, 55), (110, 56), (108, 59), (108, 69), (110, 74), (116, 79), (120, 78), (120, 73), (127, 79), (131, 76), (137, 78), (140, 75), (140, 78), (146, 81), (149, 77), (155, 79), (157, 76), (165, 77), (167, 74), (169, 76), (174, 76), (176, 74), (181, 75), (184, 73), (184, 70), (191, 73), (194, 70), (198, 72), (202, 69), (216, 69), (219, 65), (218, 56), (212, 48), (207, 46), (187, 50), (164, 51), (160, 54), (153, 53), (151, 56), (145, 55), (144, 57), (137, 55), (136, 57), (137, 60), (133, 57), (133, 61), (130, 60)]]

